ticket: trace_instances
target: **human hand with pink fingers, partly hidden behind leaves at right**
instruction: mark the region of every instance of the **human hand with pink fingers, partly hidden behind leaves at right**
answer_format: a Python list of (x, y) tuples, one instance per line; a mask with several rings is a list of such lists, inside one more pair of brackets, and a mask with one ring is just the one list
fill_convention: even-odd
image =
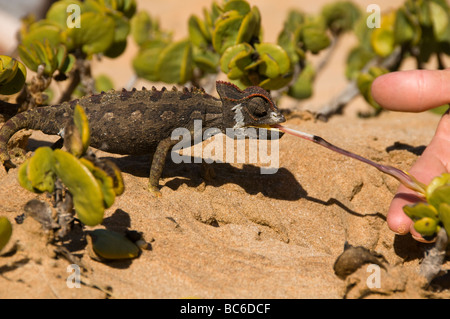
[[(383, 108), (402, 112), (422, 112), (450, 102), (450, 69), (399, 71), (382, 75), (372, 84), (372, 96)], [(450, 114), (441, 118), (436, 133), (422, 156), (408, 171), (428, 184), (434, 177), (450, 171)], [(403, 206), (420, 198), (401, 185), (387, 214), (389, 228), (397, 234), (411, 232), (414, 239), (426, 242), (414, 229)]]

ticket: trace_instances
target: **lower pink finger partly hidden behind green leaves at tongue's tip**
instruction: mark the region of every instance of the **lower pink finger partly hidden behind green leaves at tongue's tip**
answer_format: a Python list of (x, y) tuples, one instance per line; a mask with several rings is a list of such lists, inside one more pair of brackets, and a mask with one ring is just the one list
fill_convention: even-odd
[[(449, 171), (448, 160), (450, 158), (450, 115), (445, 114), (439, 122), (436, 134), (425, 149), (422, 156), (411, 167), (409, 173), (424, 184), (428, 184), (435, 176)], [(424, 241), (415, 231), (413, 222), (403, 212), (403, 206), (420, 201), (416, 193), (403, 185), (399, 187), (397, 194), (391, 202), (387, 214), (389, 228), (397, 234), (411, 232), (417, 240)]]

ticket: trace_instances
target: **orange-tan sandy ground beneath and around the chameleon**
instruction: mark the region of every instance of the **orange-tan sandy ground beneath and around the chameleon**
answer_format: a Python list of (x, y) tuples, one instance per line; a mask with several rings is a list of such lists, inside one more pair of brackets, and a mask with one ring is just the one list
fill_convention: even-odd
[[(254, 1), (261, 10), (267, 41), (276, 38), (290, 7), (317, 12), (327, 2)], [(378, 2), (388, 10), (401, 1)], [(175, 30), (181, 38), (187, 34), (189, 15), (201, 14), (209, 3), (141, 1), (140, 8), (159, 16), (162, 27)], [(365, 8), (370, 1), (359, 3)], [(438, 116), (384, 112), (361, 119), (357, 112), (370, 107), (360, 98), (327, 123), (306, 112), (317, 110), (345, 87), (345, 54), (352, 41), (350, 37), (339, 44), (317, 79), (316, 95), (295, 105), (300, 111), (289, 117), (286, 126), (408, 169), (417, 159), (414, 151), (432, 138)], [(130, 57), (135, 52), (130, 45), (123, 57), (96, 63), (94, 71), (110, 74), (120, 88), (132, 75)], [(142, 85), (148, 83), (136, 83)], [(281, 108), (293, 106), (288, 99), (280, 102)], [(48, 140), (33, 133), (29, 149)], [(86, 270), (81, 288), (68, 288), (70, 263), (54, 258), (40, 226), (32, 219), (21, 225), (14, 222), (24, 204), (38, 196), (19, 186), (16, 169), (8, 174), (1, 170), (0, 215), (13, 222), (11, 243), (20, 248), (0, 257), (0, 298), (448, 297), (445, 289), (421, 288), (417, 272), (429, 246), (387, 228), (386, 211), (398, 183), (365, 164), (284, 136), (275, 174), (260, 174), (255, 163), (215, 163), (215, 179), (205, 182), (200, 164), (175, 165), (169, 160), (161, 181), (163, 196), (154, 198), (146, 190), (149, 157), (97, 154), (116, 159), (126, 184), (100, 228), (142, 232), (151, 250), (132, 261), (100, 263), (87, 256), (86, 242), (76, 228), (66, 247), (81, 258)], [(380, 288), (367, 287), (371, 274), (367, 265), (346, 280), (335, 275), (333, 264), (345, 242), (384, 256), (388, 265), (381, 270)]]

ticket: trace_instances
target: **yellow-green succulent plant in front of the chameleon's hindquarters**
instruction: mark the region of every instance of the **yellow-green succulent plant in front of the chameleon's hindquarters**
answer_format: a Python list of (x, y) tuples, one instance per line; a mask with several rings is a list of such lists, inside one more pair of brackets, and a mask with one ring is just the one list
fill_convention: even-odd
[(120, 170), (108, 160), (84, 156), (89, 146), (89, 123), (83, 108), (76, 105), (73, 121), (65, 129), (68, 152), (38, 148), (19, 167), (19, 183), (25, 189), (52, 193), (59, 178), (73, 197), (79, 220), (89, 226), (102, 222), (105, 208), (124, 191)]

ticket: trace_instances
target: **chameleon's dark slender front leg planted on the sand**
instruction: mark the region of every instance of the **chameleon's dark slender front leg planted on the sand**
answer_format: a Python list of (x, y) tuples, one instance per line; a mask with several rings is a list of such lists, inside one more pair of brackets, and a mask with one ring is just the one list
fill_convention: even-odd
[(159, 179), (161, 178), (162, 171), (164, 169), (167, 153), (177, 142), (178, 140), (172, 139), (171, 137), (163, 139), (159, 142), (156, 147), (155, 154), (153, 155), (152, 165), (150, 168), (149, 190), (157, 197), (161, 197), (161, 192), (159, 190)]

